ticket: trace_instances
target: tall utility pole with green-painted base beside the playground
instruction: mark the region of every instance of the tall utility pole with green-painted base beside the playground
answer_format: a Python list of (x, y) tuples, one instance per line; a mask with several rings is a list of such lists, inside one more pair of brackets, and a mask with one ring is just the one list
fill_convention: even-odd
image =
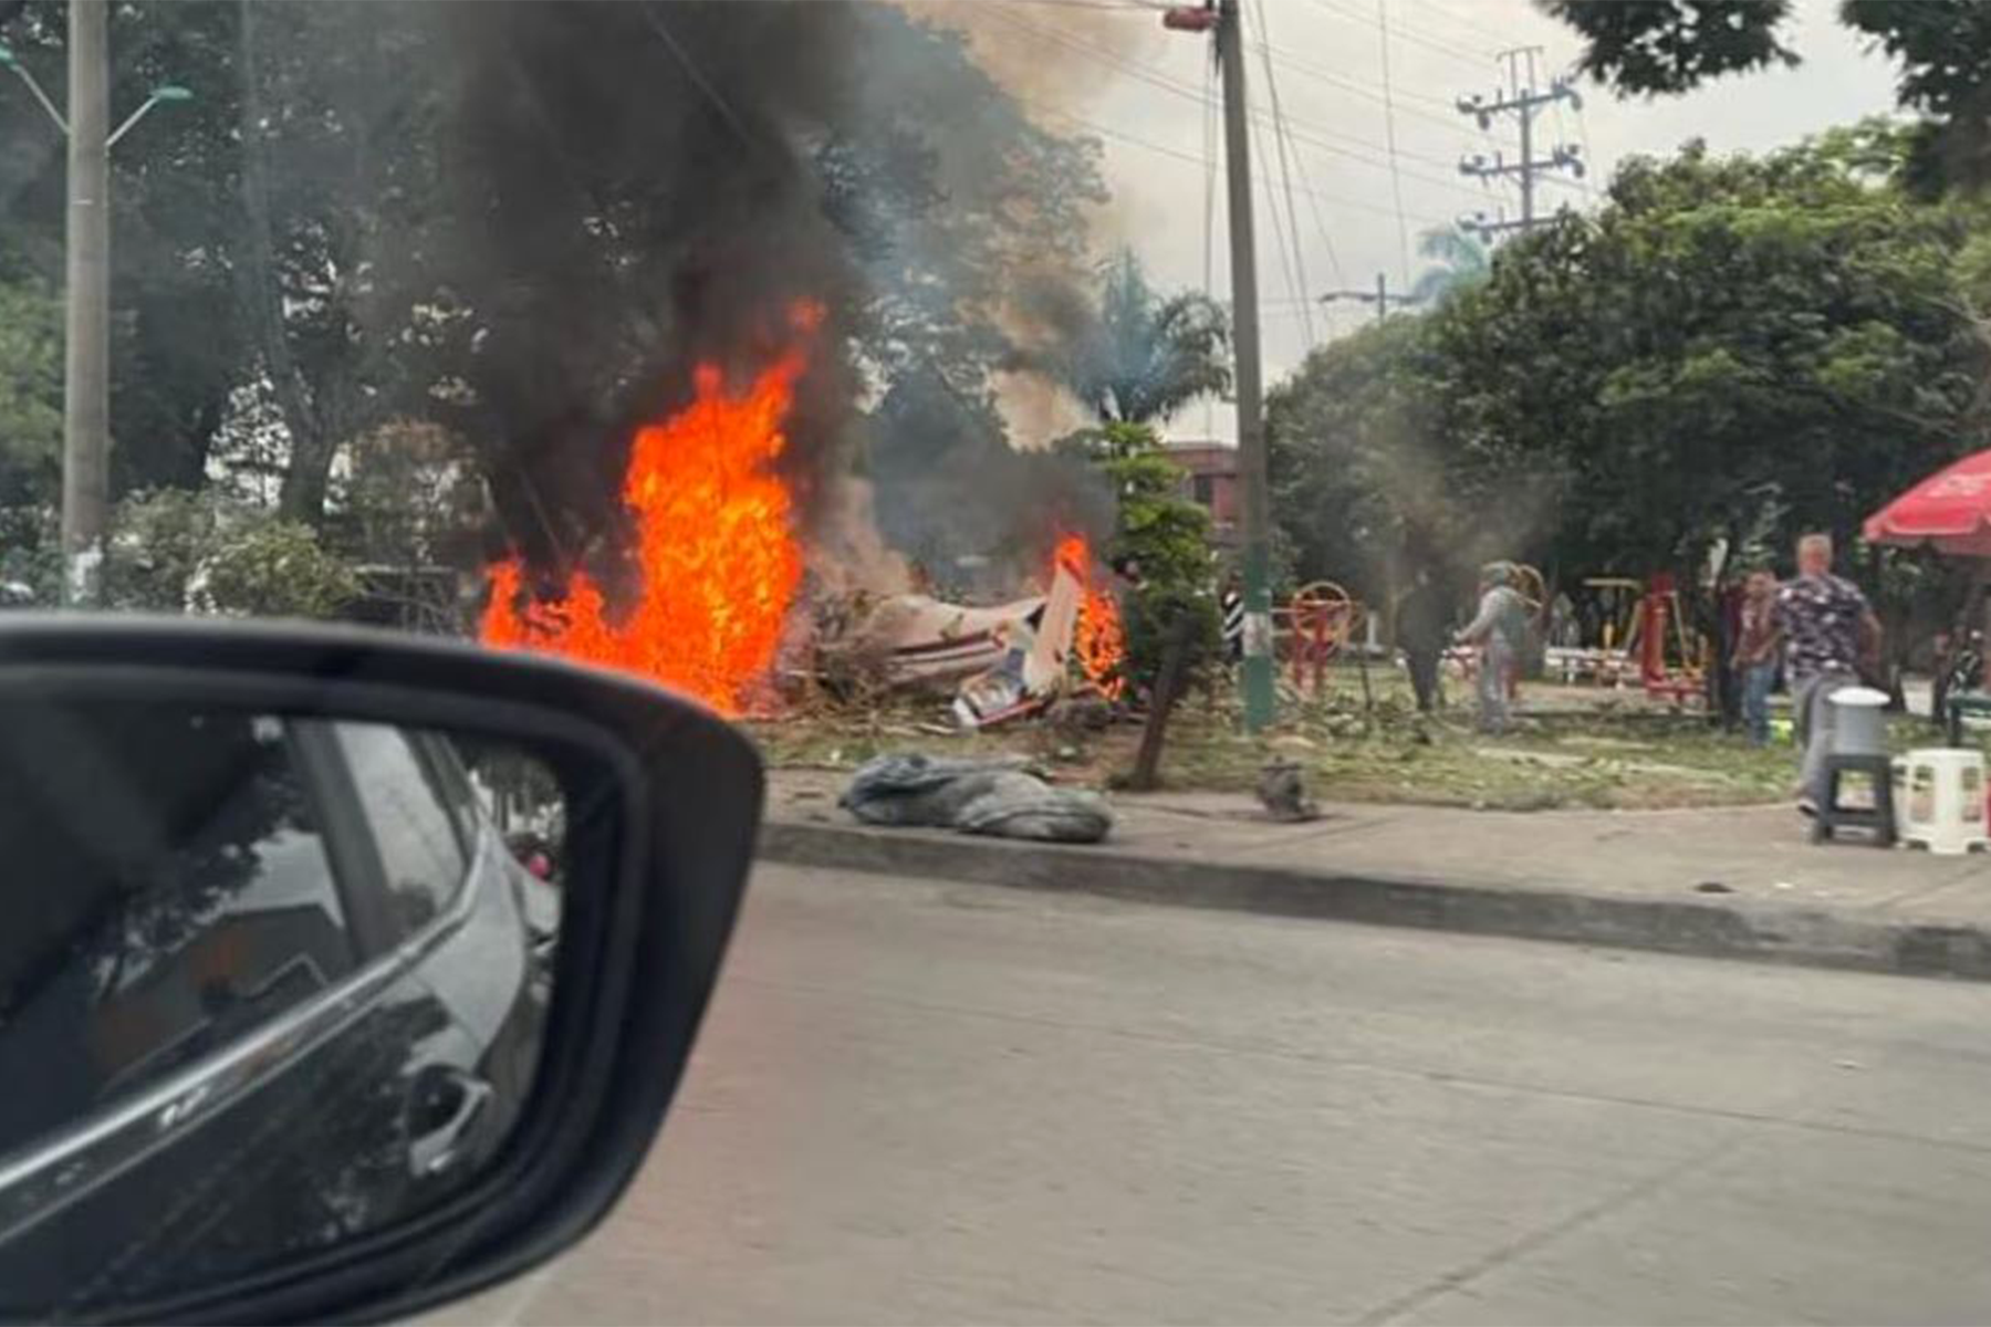
[(1230, 195), (1230, 314), (1236, 348), (1238, 477), (1244, 541), (1244, 730), (1274, 720), (1272, 485), (1266, 479), (1264, 378), (1258, 364), (1258, 245), (1250, 205), (1250, 103), (1244, 95), (1244, 24), (1238, 0), (1167, 10), (1165, 28), (1215, 32), (1224, 84), (1224, 165)]

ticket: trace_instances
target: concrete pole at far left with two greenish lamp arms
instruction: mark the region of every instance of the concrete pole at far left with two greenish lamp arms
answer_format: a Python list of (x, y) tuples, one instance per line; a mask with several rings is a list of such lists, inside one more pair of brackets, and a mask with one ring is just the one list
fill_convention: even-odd
[(70, 113), (64, 115), (12, 48), (14, 74), (70, 141), (64, 191), (62, 603), (98, 603), (110, 507), (111, 436), (111, 147), (163, 101), (191, 101), (171, 84), (111, 129), (108, 0), (70, 0)]

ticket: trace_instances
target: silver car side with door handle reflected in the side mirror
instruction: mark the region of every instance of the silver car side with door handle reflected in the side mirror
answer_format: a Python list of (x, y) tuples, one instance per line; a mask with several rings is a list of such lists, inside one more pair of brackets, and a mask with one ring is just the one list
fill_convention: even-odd
[[(94, 1043), (145, 1025), (155, 1044), (119, 1033), (131, 1058), (88, 1122), (0, 1156), (0, 1313), (167, 1297), (390, 1226), (474, 1174), (516, 1118), (530, 1068), (514, 1050), (496, 1074), (490, 1050), (518, 1035), (494, 1011), (530, 985), (524, 927), (510, 891), (478, 887), (482, 844), (450, 826), (452, 855), (434, 838), (434, 784), (402, 778), (420, 746), (313, 722), (259, 742), (299, 792), (287, 828), (323, 853), (321, 915), (273, 921), (245, 891), (88, 1007)], [(382, 808), (402, 820), (372, 824)], [(195, 1035), (165, 1017), (175, 1003)], [(157, 1076), (131, 1076), (145, 1056)]]

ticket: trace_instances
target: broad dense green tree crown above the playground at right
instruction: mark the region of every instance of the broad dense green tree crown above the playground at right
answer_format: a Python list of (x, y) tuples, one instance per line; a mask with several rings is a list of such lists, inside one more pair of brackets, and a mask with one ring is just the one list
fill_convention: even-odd
[(1418, 318), (1268, 400), (1300, 571), (1698, 575), (1860, 519), (1991, 438), (1991, 225), (1899, 185), (1862, 125), (1766, 157), (1629, 161), (1591, 217), (1505, 245)]

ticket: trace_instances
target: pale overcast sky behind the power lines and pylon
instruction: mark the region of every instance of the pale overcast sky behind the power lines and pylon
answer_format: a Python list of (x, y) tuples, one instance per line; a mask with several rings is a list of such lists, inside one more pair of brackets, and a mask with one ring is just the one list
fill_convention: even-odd
[[(1209, 281), (1228, 300), (1220, 177), (1215, 207), (1207, 209), (1207, 133), (1215, 127), (1207, 113), (1207, 40), (1165, 32), (1159, 14), (1139, 8), (1141, 0), (912, 2), (968, 26), (984, 64), (1017, 88), (1047, 125), (1101, 139), (1115, 195), (1103, 247), (1131, 245), (1163, 288), (1203, 288)], [(1416, 253), (1422, 231), (1471, 213), (1519, 215), (1511, 185), (1487, 187), (1457, 169), (1469, 153), (1501, 151), (1513, 161), (1513, 121), (1481, 131), (1455, 101), (1465, 94), (1491, 99), (1511, 86), (1497, 60), (1503, 50), (1541, 48), (1535, 82), (1547, 86), (1575, 64), (1581, 44), (1533, 0), (1242, 4), (1270, 388), (1310, 346), (1376, 316), (1374, 306), (1324, 306), (1318, 296), (1350, 286), (1372, 290), (1378, 273), (1392, 288), (1408, 288), (1426, 267)], [(1629, 155), (1670, 153), (1694, 137), (1716, 151), (1760, 151), (1893, 109), (1893, 64), (1844, 30), (1836, 10), (1838, 0), (1796, 0), (1786, 30), (1786, 44), (1804, 58), (1796, 70), (1738, 76), (1666, 99), (1625, 101), (1589, 82), (1575, 84), (1581, 111), (1567, 103), (1543, 111), (1537, 151), (1557, 143), (1581, 151), (1589, 179), (1543, 181), (1539, 207), (1595, 205), (1603, 181)], [(1274, 94), (1288, 125), (1284, 167), (1270, 131)], [(1296, 247), (1282, 189), (1288, 177)], [(1226, 406), (1191, 408), (1169, 432), (1234, 438)]]

